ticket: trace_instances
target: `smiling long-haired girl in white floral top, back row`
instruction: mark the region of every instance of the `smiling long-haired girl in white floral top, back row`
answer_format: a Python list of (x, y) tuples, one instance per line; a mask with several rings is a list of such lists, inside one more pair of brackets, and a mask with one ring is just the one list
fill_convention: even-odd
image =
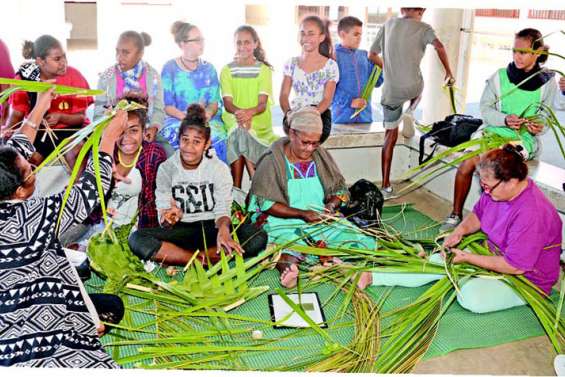
[[(284, 79), (279, 102), (285, 113), (284, 129), (288, 131), (286, 115), (305, 106), (314, 106), (324, 125), (321, 142), (331, 132), (332, 104), (339, 81), (339, 68), (333, 60), (333, 47), (328, 24), (318, 16), (308, 16), (300, 24), (302, 55), (291, 58), (284, 66)], [(294, 98), (289, 102), (291, 89)], [(288, 132), (287, 132), (288, 133)]]

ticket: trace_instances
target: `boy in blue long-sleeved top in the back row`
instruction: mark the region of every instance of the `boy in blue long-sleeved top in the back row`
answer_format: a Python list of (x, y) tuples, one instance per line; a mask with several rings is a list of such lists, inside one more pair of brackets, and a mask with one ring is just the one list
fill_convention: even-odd
[[(339, 67), (340, 80), (337, 83), (332, 101), (334, 123), (371, 123), (371, 99), (361, 98), (365, 84), (369, 80), (374, 64), (367, 51), (359, 50), (363, 22), (356, 17), (343, 17), (337, 24), (340, 44), (335, 46), (335, 56)], [(383, 82), (379, 78), (377, 86)], [(351, 116), (364, 108), (353, 119)]]

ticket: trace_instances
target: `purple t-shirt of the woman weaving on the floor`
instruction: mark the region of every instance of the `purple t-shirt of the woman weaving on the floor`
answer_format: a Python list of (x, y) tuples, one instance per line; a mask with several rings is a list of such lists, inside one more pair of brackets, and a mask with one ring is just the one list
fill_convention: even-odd
[(553, 204), (528, 178), (528, 187), (516, 198), (494, 201), (483, 193), (473, 212), (491, 250), (498, 247), (508, 264), (545, 293), (559, 278), (561, 219)]

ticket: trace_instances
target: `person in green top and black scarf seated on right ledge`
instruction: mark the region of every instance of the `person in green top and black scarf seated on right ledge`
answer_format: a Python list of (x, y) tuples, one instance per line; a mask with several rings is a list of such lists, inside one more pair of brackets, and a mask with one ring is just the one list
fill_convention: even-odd
[[(487, 80), (481, 97), (481, 116), (486, 127), (477, 131), (473, 137), (480, 137), (483, 132), (491, 132), (508, 142), (519, 141), (528, 152), (527, 158), (534, 159), (540, 150), (540, 136), (544, 133), (544, 125), (520, 118), (520, 115), (529, 105), (538, 102), (565, 110), (565, 77), (559, 79), (559, 93), (555, 74), (543, 71), (542, 68), (547, 55), (520, 49), (547, 51), (548, 47), (544, 45), (542, 34), (536, 29), (524, 29), (516, 34), (513, 61)], [(528, 81), (518, 86), (528, 78)], [(499, 100), (501, 96), (503, 97)], [(535, 107), (531, 107), (525, 116), (535, 113)], [(453, 209), (440, 231), (452, 230), (461, 222), (463, 206), (478, 162), (479, 157), (474, 157), (462, 162), (457, 169)]]

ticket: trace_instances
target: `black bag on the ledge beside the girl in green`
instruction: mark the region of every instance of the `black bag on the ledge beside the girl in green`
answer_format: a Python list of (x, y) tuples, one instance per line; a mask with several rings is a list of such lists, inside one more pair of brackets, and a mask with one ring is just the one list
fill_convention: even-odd
[[(483, 124), (481, 119), (464, 114), (452, 114), (447, 116), (444, 120), (435, 122), (432, 125), (432, 130), (420, 137), (420, 155), (418, 156), (418, 163), (423, 164), (431, 159), (439, 144), (455, 147), (469, 141), (473, 132), (477, 131), (481, 124)], [(429, 156), (424, 159), (424, 142), (429, 137), (432, 137), (435, 141), (434, 149), (432, 149)]]

